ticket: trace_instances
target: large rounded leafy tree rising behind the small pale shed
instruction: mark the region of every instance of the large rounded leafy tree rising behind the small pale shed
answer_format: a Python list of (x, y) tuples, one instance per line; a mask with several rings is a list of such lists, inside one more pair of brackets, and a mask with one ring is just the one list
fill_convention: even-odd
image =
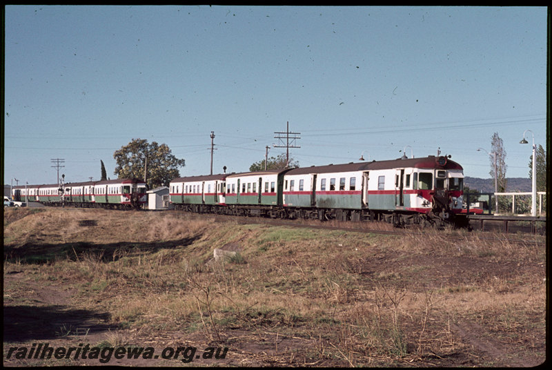
[(115, 175), (121, 178), (146, 180), (148, 188), (168, 186), (170, 180), (179, 177), (184, 159), (172, 155), (166, 144), (148, 143), (146, 139), (132, 139), (126, 146), (113, 153), (117, 161)]

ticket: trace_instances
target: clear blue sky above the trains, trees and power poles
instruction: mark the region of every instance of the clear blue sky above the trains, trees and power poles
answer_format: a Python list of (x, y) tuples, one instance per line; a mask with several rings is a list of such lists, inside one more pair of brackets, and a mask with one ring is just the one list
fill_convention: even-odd
[[(442, 154), (507, 177), (546, 148), (546, 8), (6, 6), (4, 180), (116, 178), (133, 138), (183, 176), (248, 171), (301, 133), (300, 166)], [(531, 133), (526, 135), (531, 143)], [(15, 183), (14, 183), (15, 184)]]

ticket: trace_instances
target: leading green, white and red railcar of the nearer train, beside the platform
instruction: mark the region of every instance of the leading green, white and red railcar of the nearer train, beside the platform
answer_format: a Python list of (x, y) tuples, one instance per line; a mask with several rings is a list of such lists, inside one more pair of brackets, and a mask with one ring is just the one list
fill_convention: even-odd
[(462, 224), (462, 166), (428, 156), (296, 168), (284, 176), (288, 217)]

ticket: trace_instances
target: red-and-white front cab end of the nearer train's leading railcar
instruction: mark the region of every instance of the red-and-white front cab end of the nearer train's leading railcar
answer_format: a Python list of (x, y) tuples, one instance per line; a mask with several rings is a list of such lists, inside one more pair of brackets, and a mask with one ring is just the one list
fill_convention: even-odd
[(436, 157), (434, 168), (413, 168), (416, 207), (423, 212), (449, 220), (462, 212), (464, 175), (462, 166)]

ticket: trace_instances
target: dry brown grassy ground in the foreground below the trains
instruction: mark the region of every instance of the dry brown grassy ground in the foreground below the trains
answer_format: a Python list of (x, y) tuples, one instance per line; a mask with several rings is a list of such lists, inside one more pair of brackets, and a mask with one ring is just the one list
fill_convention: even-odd
[[(36, 284), (70, 291), (63, 304), (108, 313), (108, 343), (226, 344), (235, 350), (229, 364), (260, 366), (544, 360), (542, 244), (220, 224), (181, 213), (7, 217), (5, 280), (24, 276), (6, 280), (7, 304)], [(239, 258), (215, 263), (215, 248)]]

